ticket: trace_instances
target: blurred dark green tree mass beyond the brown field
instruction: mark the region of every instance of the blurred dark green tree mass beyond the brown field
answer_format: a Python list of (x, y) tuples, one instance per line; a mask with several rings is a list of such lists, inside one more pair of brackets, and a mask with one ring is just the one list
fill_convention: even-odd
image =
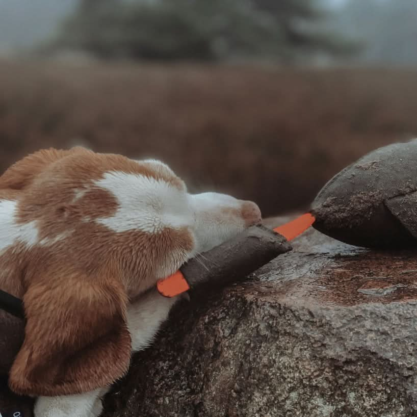
[(81, 0), (57, 47), (103, 58), (226, 60), (351, 53), (311, 0)]

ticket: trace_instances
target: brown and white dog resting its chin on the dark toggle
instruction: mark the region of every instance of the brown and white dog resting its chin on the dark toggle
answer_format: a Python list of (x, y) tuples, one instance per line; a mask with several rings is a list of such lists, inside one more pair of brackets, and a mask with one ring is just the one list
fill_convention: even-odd
[(101, 412), (100, 397), (179, 297), (159, 278), (260, 221), (256, 204), (192, 195), (165, 164), (48, 149), (0, 177), (0, 289), (27, 324), (9, 383), (36, 417)]

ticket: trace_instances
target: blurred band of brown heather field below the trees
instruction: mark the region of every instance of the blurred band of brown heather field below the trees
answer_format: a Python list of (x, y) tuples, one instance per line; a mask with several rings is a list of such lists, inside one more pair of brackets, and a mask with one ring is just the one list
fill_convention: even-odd
[(0, 170), (42, 147), (166, 161), (192, 190), (303, 209), (364, 152), (417, 136), (417, 70), (0, 61)]

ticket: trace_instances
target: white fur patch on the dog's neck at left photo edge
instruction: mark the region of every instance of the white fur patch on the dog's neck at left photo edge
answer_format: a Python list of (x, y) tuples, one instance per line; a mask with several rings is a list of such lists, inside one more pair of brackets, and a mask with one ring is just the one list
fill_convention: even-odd
[(39, 240), (36, 221), (18, 224), (15, 221), (16, 212), (17, 201), (0, 200), (0, 254), (16, 243), (33, 246)]

